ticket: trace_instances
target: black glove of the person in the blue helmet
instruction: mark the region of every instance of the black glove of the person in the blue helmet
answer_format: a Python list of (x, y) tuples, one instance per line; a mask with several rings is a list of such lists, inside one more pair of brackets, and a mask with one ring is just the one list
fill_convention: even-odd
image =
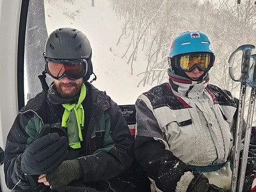
[(208, 178), (203, 173), (195, 173), (195, 177), (188, 185), (187, 192), (230, 192), (230, 190), (218, 188), (216, 185), (209, 184)]

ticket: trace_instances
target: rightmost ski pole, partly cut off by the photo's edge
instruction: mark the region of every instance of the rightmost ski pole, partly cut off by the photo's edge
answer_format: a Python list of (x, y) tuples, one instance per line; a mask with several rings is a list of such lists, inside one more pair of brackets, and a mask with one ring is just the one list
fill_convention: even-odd
[(255, 95), (256, 95), (256, 55), (251, 56), (253, 59), (253, 65), (251, 68), (251, 81), (247, 83), (248, 87), (252, 87), (250, 100), (249, 100), (249, 107), (248, 107), (248, 116), (247, 116), (247, 127), (246, 127), (246, 134), (245, 134), (245, 143), (243, 147), (243, 155), (241, 160), (241, 169), (240, 169), (240, 178), (238, 191), (242, 191), (243, 184), (245, 182), (245, 172), (247, 166), (247, 159), (248, 159), (248, 149), (251, 140), (251, 132), (252, 132), (252, 121), (253, 121), (253, 111), (255, 106)]

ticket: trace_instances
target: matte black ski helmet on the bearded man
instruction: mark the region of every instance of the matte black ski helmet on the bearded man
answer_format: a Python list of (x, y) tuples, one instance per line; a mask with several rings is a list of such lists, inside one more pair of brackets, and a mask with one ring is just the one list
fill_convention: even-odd
[(87, 73), (84, 82), (93, 74), (92, 48), (86, 35), (74, 28), (59, 28), (53, 31), (45, 44), (44, 57), (53, 59), (86, 59)]

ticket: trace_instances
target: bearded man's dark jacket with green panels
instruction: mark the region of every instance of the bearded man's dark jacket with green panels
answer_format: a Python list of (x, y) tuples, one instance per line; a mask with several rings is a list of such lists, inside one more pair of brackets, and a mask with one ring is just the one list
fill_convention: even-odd
[[(128, 169), (133, 162), (134, 141), (118, 105), (91, 83), (86, 82), (85, 85), (87, 94), (82, 101), (85, 110), (84, 141), (81, 148), (69, 147), (67, 159), (78, 158), (84, 170), (83, 182), (101, 182)], [(21, 172), (21, 154), (33, 142), (41, 125), (49, 123), (60, 128), (63, 112), (62, 105), (52, 105), (44, 92), (21, 109), (5, 147), (4, 173), (9, 189), (31, 189), (29, 178)]]

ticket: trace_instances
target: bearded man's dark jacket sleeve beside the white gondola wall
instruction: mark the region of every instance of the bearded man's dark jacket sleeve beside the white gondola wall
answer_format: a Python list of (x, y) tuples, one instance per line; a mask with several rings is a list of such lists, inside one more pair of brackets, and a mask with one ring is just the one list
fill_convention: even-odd
[[(28, 189), (32, 188), (29, 179), (37, 181), (38, 176), (29, 176), (28, 178), (21, 171), (21, 155), (25, 151), (29, 139), (32, 140), (32, 138), (26, 133), (25, 126), (23, 127), (20, 121), (21, 116), (23, 115), (20, 113), (17, 115), (7, 136), (4, 152), (4, 174), (5, 183), (9, 189), (16, 191), (28, 191)], [(22, 118), (22, 122), (24, 121), (26, 120)], [(39, 183), (37, 183), (37, 185), (39, 185)]]

